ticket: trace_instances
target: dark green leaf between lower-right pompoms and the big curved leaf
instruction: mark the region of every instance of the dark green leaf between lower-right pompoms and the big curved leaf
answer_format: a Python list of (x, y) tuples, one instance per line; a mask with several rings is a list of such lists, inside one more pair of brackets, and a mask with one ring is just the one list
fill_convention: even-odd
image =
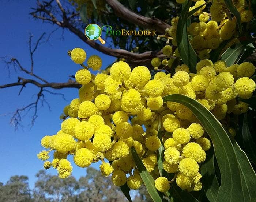
[(207, 151), (206, 161), (201, 166), (202, 184), (209, 201), (216, 201), (219, 191), (219, 183), (214, 171), (214, 150), (211, 147)]

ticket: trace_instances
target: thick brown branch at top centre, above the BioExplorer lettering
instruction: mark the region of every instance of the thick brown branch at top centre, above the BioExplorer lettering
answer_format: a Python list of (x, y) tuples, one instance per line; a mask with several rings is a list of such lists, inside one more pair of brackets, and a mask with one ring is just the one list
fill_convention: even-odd
[(114, 13), (118, 17), (136, 25), (156, 30), (157, 32), (162, 34), (165, 33), (166, 28), (171, 27), (171, 25), (165, 23), (162, 20), (159, 20), (158, 18), (151, 18), (139, 15), (138, 13), (135, 13), (130, 9), (124, 7), (124, 5), (122, 5), (117, 0), (106, 0), (106, 2), (110, 5), (110, 7), (113, 9)]

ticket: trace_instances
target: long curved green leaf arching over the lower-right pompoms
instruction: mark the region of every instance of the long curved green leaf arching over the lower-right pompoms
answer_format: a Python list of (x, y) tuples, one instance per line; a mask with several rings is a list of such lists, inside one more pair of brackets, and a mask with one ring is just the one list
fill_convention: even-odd
[[(244, 198), (249, 197), (248, 195), (253, 195), (252, 189), (256, 186), (256, 180), (253, 184), (250, 184), (252, 188), (248, 192), (244, 192), (244, 195), (241, 195), (241, 190), (244, 189), (245, 186), (242, 183), (251, 181), (250, 178), (252, 176), (241, 172), (237, 152), (225, 129), (215, 116), (201, 103), (185, 95), (167, 95), (163, 97), (163, 101), (178, 102), (188, 107), (196, 118), (199, 119), (204, 130), (210, 136), (217, 163), (221, 171), (221, 186), (219, 187), (217, 201), (244, 201)], [(253, 172), (251, 167), (246, 167), (246, 170)]]

